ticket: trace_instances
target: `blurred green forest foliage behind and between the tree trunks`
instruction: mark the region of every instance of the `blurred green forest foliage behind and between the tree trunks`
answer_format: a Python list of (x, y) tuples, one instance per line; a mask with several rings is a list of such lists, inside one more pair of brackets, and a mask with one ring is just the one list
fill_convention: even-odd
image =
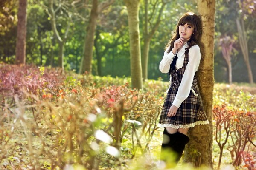
[[(59, 40), (53, 34), (51, 18), (47, 14), (48, 1), (29, 0), (27, 7), (27, 36), (26, 63), (35, 65), (58, 65)], [(49, 1), (50, 2), (50, 1)], [(61, 1), (60, 1), (61, 2)], [(61, 4), (55, 1), (55, 10)], [(70, 1), (71, 2), (71, 1)], [(155, 1), (157, 2), (157, 1)], [(252, 1), (253, 2), (253, 1)], [(61, 8), (56, 10), (56, 28), (59, 37), (64, 39), (64, 68), (79, 72), (81, 59), (84, 56), (86, 28), (90, 17), (90, 2), (80, 1), (71, 6), (68, 1), (62, 1)], [(65, 4), (66, 3), (66, 4)], [(82, 4), (87, 5), (82, 5)], [(145, 4), (140, 4), (140, 38), (141, 50), (145, 38)], [(153, 28), (157, 22), (161, 2), (151, 2), (148, 14)], [(154, 5), (157, 5), (154, 7)], [(256, 31), (255, 6), (248, 3), (243, 9), (244, 26), (248, 42), (248, 56), (251, 71), (256, 72)], [(255, 5), (255, 4), (254, 4)], [(15, 46), (17, 38), (17, 8), (18, 1), (1, 1), (0, 8), (0, 61), (15, 62)], [(155, 11), (153, 9), (155, 8)], [(152, 11), (151, 11), (152, 10)], [(158, 10), (158, 11), (157, 11)], [(148, 79), (163, 77), (168, 80), (168, 74), (159, 71), (159, 62), (163, 57), (165, 44), (171, 37), (178, 18), (186, 11), (197, 11), (196, 0), (172, 0), (166, 3), (160, 14), (160, 22), (154, 32), (148, 54)], [(235, 11), (235, 12), (234, 12)], [(48, 11), (49, 12), (49, 11)], [(214, 78), (215, 82), (229, 82), (228, 64), (221, 52), (221, 40), (231, 44), (230, 61), (233, 82), (249, 82), (247, 66), (239, 45), (239, 32), (236, 19), (241, 18), (242, 8), (236, 0), (216, 1), (215, 12), (215, 49), (214, 49)], [(150, 15), (154, 13), (154, 15)], [(111, 77), (128, 77), (131, 75), (129, 56), (129, 33), (126, 7), (122, 1), (113, 2), (108, 8), (99, 13), (93, 47), (92, 74)], [(149, 26), (149, 27), (150, 27)], [(69, 29), (67, 30), (67, 27)], [(151, 28), (151, 29), (152, 29)], [(225, 39), (226, 38), (226, 39)], [(253, 75), (256, 79), (256, 74)]]

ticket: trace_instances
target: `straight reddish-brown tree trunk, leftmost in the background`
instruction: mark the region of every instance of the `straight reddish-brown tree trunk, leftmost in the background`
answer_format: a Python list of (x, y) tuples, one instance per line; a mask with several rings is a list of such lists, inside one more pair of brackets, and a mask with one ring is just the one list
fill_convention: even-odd
[(27, 0), (19, 0), (17, 42), (16, 42), (16, 64), (26, 63), (26, 23), (27, 23)]

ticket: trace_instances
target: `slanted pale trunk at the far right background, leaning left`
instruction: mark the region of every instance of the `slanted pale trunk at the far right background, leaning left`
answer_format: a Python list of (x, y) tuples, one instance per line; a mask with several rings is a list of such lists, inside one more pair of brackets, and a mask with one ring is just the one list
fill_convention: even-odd
[(242, 49), (242, 53), (244, 56), (244, 62), (247, 66), (247, 71), (248, 71), (248, 77), (249, 77), (249, 82), (253, 83), (253, 73), (252, 69), (250, 68), (250, 61), (249, 61), (249, 54), (248, 54), (248, 45), (247, 45), (247, 37), (246, 37), (246, 32), (244, 29), (244, 20), (241, 20), (241, 23), (239, 19), (236, 19), (236, 25), (237, 25), (237, 30), (238, 30), (238, 35), (239, 35), (239, 44)]

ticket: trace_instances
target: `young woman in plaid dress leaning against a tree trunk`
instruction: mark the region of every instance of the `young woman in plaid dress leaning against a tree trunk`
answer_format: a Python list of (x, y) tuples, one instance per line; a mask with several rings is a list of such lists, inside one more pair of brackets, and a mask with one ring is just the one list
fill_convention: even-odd
[(177, 163), (189, 142), (189, 128), (209, 123), (195, 77), (201, 59), (198, 46), (201, 25), (196, 14), (183, 14), (159, 65), (162, 73), (169, 72), (170, 75), (170, 86), (166, 91), (159, 121), (160, 127), (164, 127), (160, 156), (162, 161), (169, 159), (162, 154), (163, 150), (170, 149), (176, 153)]

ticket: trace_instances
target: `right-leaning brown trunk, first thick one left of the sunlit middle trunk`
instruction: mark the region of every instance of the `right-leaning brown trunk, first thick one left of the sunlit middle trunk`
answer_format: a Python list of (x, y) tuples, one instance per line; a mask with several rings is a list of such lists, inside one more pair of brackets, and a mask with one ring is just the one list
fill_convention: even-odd
[(84, 42), (84, 57), (81, 60), (81, 66), (79, 73), (83, 74), (84, 71), (91, 74), (92, 71), (92, 59), (93, 59), (93, 43), (94, 34), (96, 30), (96, 20), (98, 18), (98, 0), (93, 0), (93, 7), (90, 11), (90, 20), (87, 26), (87, 33)]

